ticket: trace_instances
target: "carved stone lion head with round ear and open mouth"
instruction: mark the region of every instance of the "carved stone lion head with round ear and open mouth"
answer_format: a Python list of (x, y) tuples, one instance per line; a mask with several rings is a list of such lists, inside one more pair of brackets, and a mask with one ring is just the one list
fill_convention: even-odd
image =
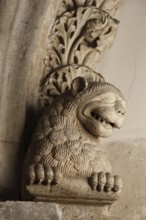
[(115, 86), (77, 77), (72, 82), (71, 89), (79, 100), (77, 118), (92, 135), (109, 137), (115, 128), (122, 127), (126, 102)]

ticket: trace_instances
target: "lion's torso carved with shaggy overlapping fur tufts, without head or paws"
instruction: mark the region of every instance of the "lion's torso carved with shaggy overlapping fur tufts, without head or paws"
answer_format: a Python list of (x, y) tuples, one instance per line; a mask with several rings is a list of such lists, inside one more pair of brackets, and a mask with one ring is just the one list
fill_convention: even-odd
[(111, 171), (99, 137), (90, 134), (78, 120), (80, 101), (81, 97), (68, 91), (48, 107), (33, 135), (27, 165), (40, 163), (58, 167), (67, 176), (90, 176), (95, 171)]

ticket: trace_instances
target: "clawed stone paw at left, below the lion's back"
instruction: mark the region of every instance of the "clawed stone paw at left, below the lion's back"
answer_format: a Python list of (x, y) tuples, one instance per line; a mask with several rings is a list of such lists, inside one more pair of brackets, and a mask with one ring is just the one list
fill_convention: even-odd
[(51, 168), (42, 164), (36, 164), (28, 166), (25, 179), (28, 185), (57, 184), (62, 179), (62, 173), (56, 167)]

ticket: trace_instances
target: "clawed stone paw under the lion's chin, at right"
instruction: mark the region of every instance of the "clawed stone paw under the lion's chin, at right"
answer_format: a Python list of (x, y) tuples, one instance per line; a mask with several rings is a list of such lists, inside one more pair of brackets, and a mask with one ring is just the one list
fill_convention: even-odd
[(112, 173), (92, 173), (90, 177), (90, 186), (93, 190), (105, 192), (120, 192), (123, 186), (122, 178), (120, 176), (113, 176)]

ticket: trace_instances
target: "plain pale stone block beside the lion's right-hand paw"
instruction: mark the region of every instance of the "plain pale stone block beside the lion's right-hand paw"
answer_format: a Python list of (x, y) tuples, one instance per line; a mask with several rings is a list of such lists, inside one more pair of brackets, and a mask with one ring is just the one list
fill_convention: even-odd
[(113, 141), (105, 146), (113, 173), (123, 178), (124, 187), (112, 212), (123, 220), (146, 219), (146, 138)]

